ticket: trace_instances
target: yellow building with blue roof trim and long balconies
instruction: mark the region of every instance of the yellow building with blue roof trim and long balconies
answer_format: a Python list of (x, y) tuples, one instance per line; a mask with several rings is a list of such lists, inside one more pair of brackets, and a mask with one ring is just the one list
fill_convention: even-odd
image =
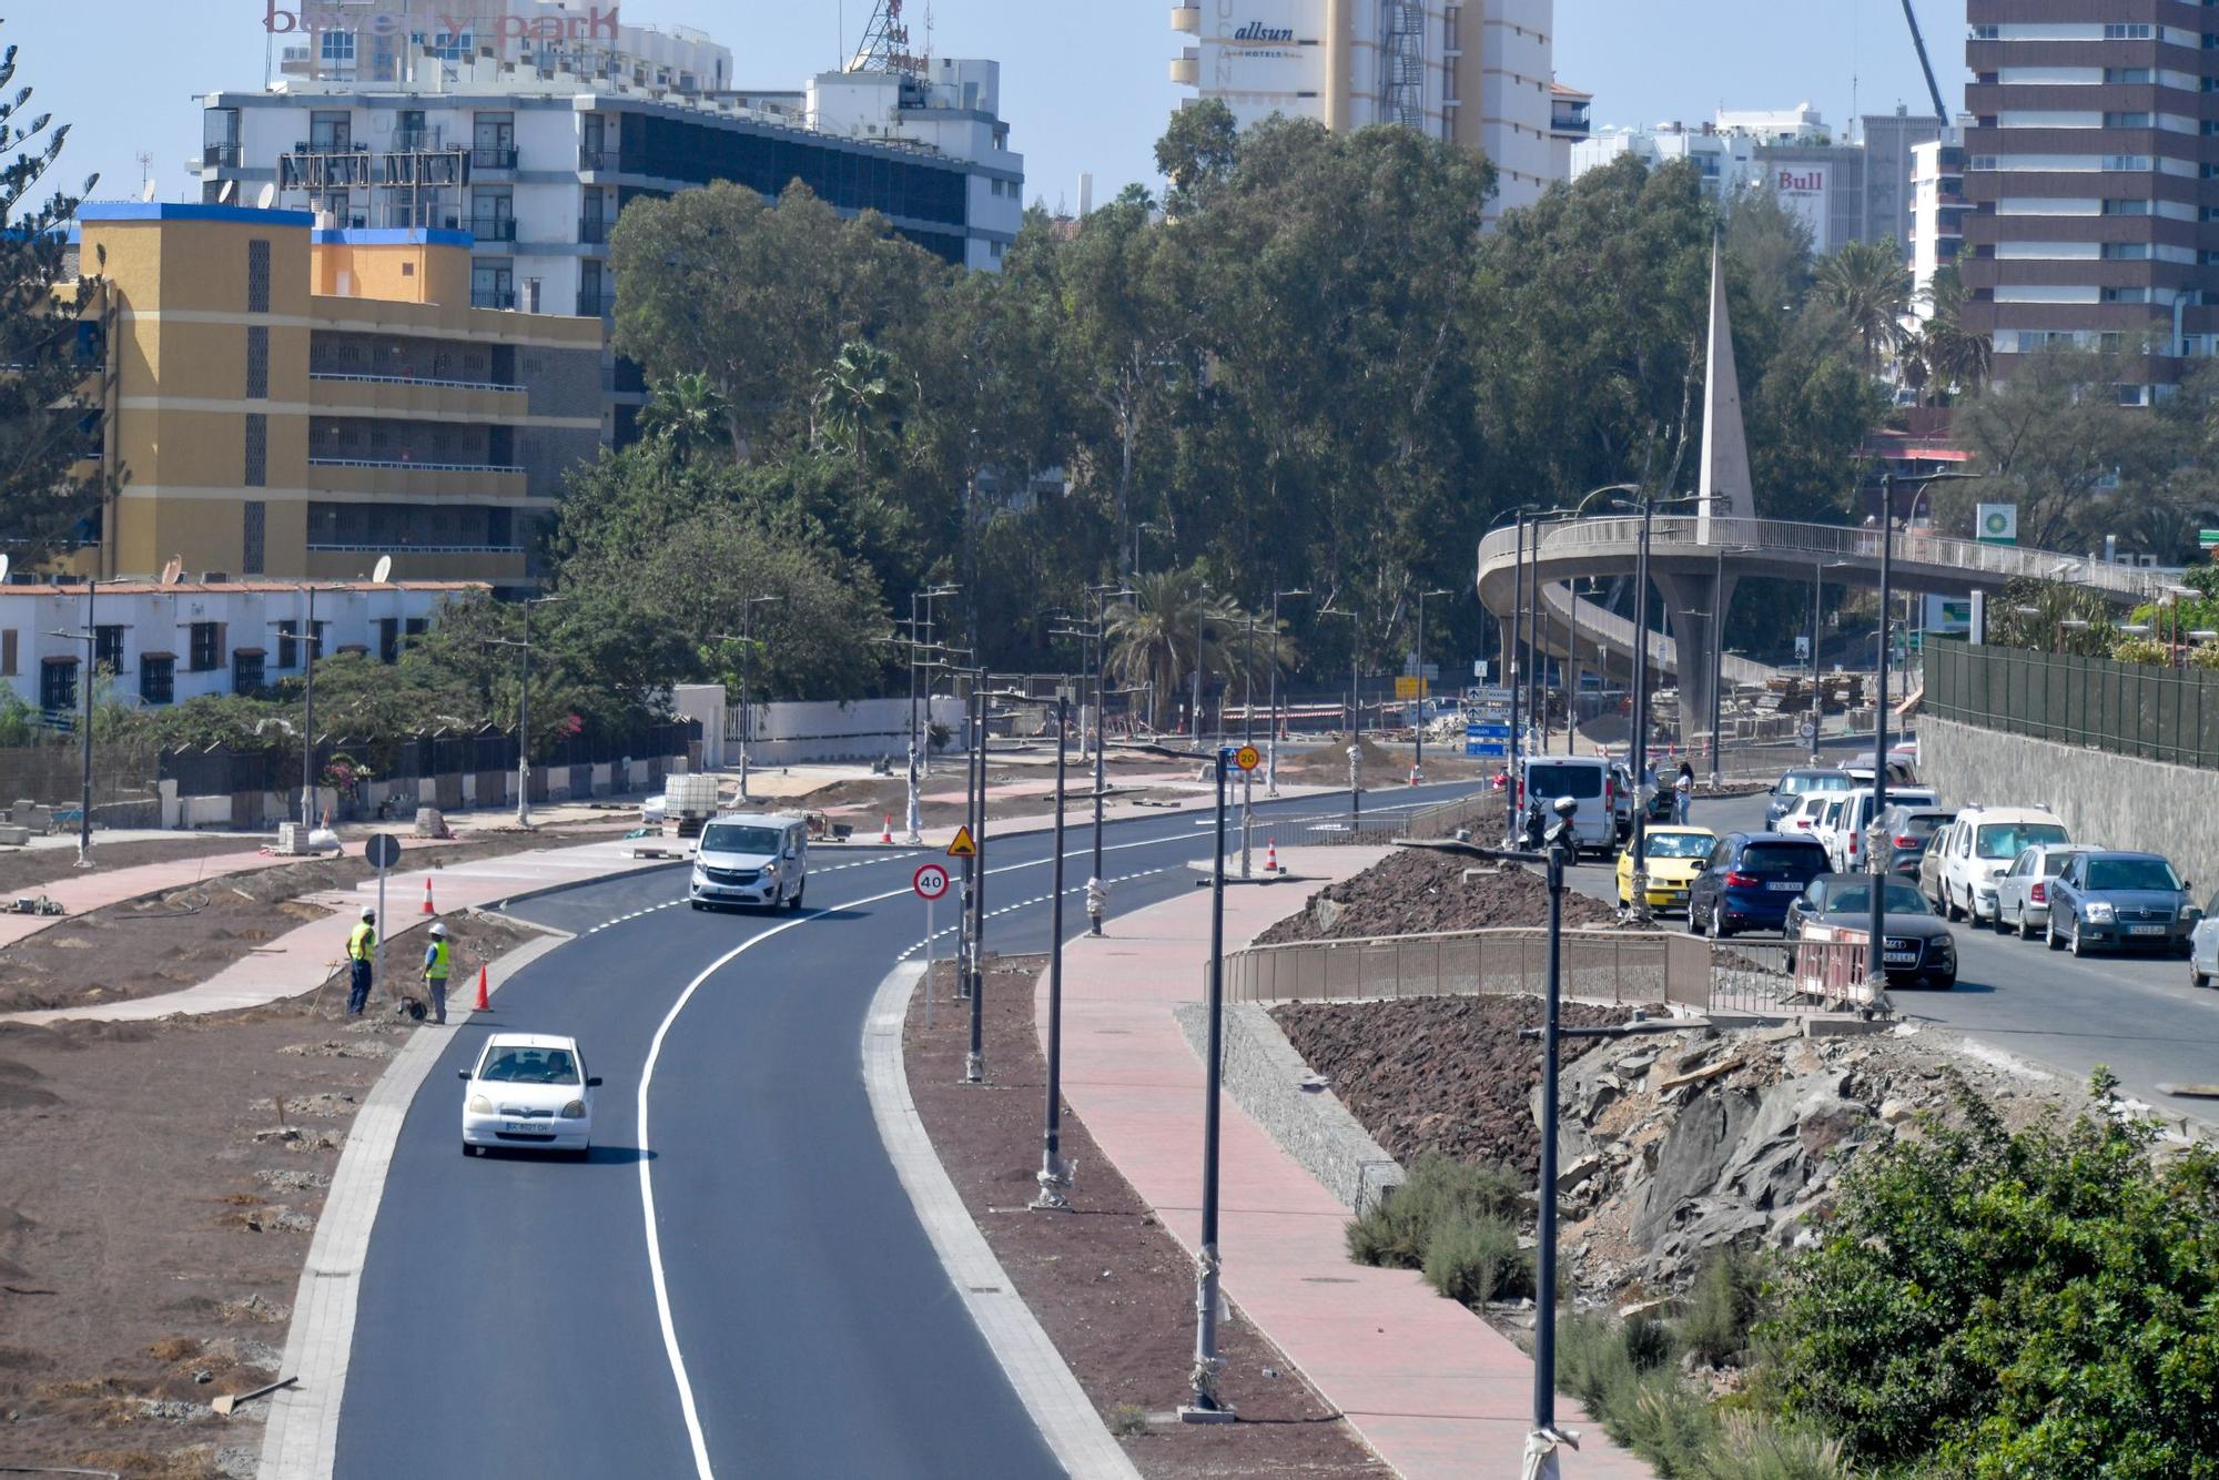
[(466, 231), (89, 204), (104, 277), (100, 577), (530, 581), (533, 528), (601, 444), (601, 322), (470, 306)]

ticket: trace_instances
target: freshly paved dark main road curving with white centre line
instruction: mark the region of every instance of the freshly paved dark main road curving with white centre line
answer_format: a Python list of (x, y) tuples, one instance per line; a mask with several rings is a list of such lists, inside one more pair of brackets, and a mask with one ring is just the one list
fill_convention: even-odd
[[(1462, 790), (1374, 792), (1365, 810)], [(1134, 819), (1107, 845), (1114, 916), (1192, 890), (1209, 830)], [(1065, 852), (1076, 934), (1090, 832)], [(519, 905), (579, 939), (455, 1034), (408, 1112), (337, 1476), (1056, 1473), (910, 1209), (859, 1072), (870, 996), (923, 930), (910, 874), (928, 856), (823, 848), (810, 908), (783, 916), (688, 910), (679, 870)], [(1047, 834), (990, 832), (990, 950), (1047, 947)], [(936, 925), (952, 921), (943, 903)], [(606, 1081), (590, 1163), (462, 1154), (455, 1072), (488, 1027), (579, 1038)]]

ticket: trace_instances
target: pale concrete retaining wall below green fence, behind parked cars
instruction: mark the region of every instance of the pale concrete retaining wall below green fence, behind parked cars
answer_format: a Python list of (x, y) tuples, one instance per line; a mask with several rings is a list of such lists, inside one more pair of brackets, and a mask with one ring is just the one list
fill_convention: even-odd
[(2219, 885), (2219, 772), (1959, 726), (1917, 723), (1919, 781), (1951, 808), (2048, 803), (2077, 843), (2172, 859), (2201, 896)]

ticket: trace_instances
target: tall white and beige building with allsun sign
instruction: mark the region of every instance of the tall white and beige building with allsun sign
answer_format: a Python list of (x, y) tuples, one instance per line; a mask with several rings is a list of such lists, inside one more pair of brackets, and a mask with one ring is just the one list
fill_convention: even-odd
[(1482, 151), (1493, 211), (1540, 200), (1553, 162), (1553, 0), (1183, 0), (1194, 38), (1172, 82), (1247, 126), (1271, 113), (1327, 129), (1396, 122)]

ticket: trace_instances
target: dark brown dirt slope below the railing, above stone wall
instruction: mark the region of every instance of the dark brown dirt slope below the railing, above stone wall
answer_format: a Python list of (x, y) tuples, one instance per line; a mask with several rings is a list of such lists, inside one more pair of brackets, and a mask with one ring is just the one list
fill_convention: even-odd
[[(1564, 1027), (1624, 1023), (1622, 1007), (1564, 1003)], [(1271, 1018), (1365, 1129), (1409, 1165), (1420, 1152), (1540, 1169), (1529, 1101), (1540, 1085), (1538, 996), (1287, 1003)], [(1562, 1038), (1564, 1063), (1595, 1041)]]

